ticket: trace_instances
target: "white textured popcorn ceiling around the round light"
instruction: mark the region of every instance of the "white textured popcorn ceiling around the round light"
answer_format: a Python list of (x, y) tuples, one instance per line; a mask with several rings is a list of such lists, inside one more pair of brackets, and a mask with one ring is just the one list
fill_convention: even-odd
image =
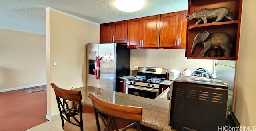
[(136, 12), (122, 12), (115, 0), (0, 0), (0, 28), (45, 35), (45, 8), (51, 7), (95, 22), (108, 23), (187, 10), (188, 0), (144, 0)]

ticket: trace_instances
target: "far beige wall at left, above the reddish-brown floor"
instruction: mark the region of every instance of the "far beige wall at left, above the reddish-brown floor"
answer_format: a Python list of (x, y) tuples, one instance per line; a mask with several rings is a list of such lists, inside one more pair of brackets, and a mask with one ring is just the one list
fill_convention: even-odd
[(46, 36), (0, 29), (0, 92), (46, 83)]

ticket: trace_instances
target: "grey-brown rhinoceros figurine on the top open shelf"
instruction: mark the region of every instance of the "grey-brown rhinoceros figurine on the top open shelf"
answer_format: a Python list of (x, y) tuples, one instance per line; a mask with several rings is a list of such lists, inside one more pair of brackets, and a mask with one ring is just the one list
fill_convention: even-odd
[(198, 23), (204, 21), (204, 23), (207, 23), (207, 19), (216, 19), (214, 22), (218, 22), (222, 20), (222, 18), (227, 18), (228, 20), (233, 20), (233, 18), (230, 16), (232, 14), (232, 10), (230, 10), (227, 7), (219, 7), (219, 8), (213, 8), (213, 9), (201, 9), (195, 12), (192, 15), (186, 16), (187, 20), (197, 19), (196, 25)]

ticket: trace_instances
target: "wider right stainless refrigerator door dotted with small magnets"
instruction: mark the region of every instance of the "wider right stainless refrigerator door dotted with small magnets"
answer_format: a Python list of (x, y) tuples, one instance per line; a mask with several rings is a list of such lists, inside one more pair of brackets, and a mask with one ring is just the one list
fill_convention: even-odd
[(100, 78), (98, 87), (114, 90), (115, 43), (99, 44)]

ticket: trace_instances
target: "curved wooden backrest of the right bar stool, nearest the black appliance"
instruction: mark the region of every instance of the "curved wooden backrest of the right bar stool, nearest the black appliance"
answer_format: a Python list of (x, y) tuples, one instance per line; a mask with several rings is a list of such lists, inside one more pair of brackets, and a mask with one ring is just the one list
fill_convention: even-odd
[[(124, 119), (132, 122), (130, 125), (127, 125), (122, 129), (122, 131), (126, 131), (127, 129), (134, 127), (137, 128), (137, 131), (140, 131), (142, 107), (113, 104), (98, 98), (92, 93), (88, 94), (88, 96), (92, 100), (98, 131), (100, 131), (99, 117), (105, 125), (104, 131), (109, 131), (111, 124), (113, 124), (116, 131), (119, 131), (116, 125), (116, 119)], [(104, 117), (106, 116), (108, 121), (104, 120)]]

